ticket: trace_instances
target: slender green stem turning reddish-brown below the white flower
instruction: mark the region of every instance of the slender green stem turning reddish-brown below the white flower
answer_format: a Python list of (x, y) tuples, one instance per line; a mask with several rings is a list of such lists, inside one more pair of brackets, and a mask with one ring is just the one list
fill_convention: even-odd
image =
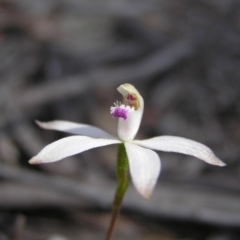
[(112, 206), (111, 222), (108, 228), (106, 240), (110, 240), (118, 218), (124, 194), (128, 188), (128, 157), (124, 144), (118, 147), (117, 155), (117, 189)]

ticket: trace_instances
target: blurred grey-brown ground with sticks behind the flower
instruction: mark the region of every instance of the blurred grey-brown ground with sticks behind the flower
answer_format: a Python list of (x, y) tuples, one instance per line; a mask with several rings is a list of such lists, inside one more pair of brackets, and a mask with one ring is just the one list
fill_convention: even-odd
[(138, 138), (208, 145), (227, 167), (158, 152), (149, 201), (130, 186), (115, 240), (240, 239), (238, 0), (0, 1), (0, 240), (99, 240), (110, 221), (116, 146), (30, 166), (64, 119), (116, 134), (116, 88), (145, 99)]

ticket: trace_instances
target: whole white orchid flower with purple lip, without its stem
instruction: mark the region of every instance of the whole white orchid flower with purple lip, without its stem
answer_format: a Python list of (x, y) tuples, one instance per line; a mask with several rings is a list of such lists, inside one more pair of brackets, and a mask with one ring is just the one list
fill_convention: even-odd
[(143, 98), (131, 84), (123, 84), (117, 90), (123, 95), (123, 102), (122, 104), (116, 102), (110, 112), (114, 118), (118, 118), (118, 137), (86, 124), (59, 120), (37, 121), (38, 125), (44, 129), (77, 135), (49, 144), (29, 162), (31, 164), (55, 162), (92, 148), (123, 143), (133, 184), (145, 198), (150, 197), (161, 169), (160, 158), (152, 150), (183, 153), (209, 164), (225, 166), (225, 163), (218, 159), (207, 146), (186, 138), (159, 136), (146, 140), (134, 140), (142, 120)]

